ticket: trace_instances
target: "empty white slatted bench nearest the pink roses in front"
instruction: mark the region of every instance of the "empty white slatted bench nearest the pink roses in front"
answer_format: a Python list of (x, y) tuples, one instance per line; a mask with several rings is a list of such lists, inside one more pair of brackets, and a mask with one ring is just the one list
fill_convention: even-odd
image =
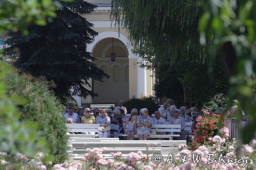
[[(161, 153), (161, 143), (159, 142), (129, 142), (129, 141), (107, 141), (107, 142), (73, 142), (73, 156), (74, 159), (80, 159), (79, 156), (84, 155), (86, 153), (86, 149), (93, 149), (93, 148), (107, 148), (107, 151), (104, 151), (103, 155), (109, 155), (112, 152), (122, 152), (123, 154), (129, 154), (131, 152), (138, 152), (141, 151), (142, 153), (146, 154), (147, 156), (152, 153)], [(78, 157), (78, 158), (77, 158)]]

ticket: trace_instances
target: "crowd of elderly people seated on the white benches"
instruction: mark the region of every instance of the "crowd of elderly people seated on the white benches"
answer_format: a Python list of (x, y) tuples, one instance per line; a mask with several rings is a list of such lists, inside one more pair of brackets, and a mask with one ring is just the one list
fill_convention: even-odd
[[(136, 108), (131, 110), (131, 116), (126, 117), (127, 109), (123, 106), (120, 100), (118, 106), (112, 109), (93, 109), (91, 114), (90, 108), (85, 108), (82, 111), (74, 113), (72, 106), (68, 107), (67, 113), (64, 114), (66, 123), (74, 124), (99, 124), (100, 138), (113, 136), (119, 137), (120, 133), (127, 134), (128, 140), (133, 140), (137, 134), (139, 140), (147, 140), (153, 132), (152, 125), (181, 125), (180, 139), (185, 140), (186, 132), (184, 131), (184, 123), (191, 122), (191, 112), (197, 109), (189, 108), (187, 103), (178, 109), (172, 99), (167, 99), (163, 106), (154, 112), (154, 117), (148, 115), (147, 108), (142, 108), (139, 111)], [(166, 134), (165, 132), (155, 132), (157, 134)], [(93, 134), (92, 132), (87, 134)]]

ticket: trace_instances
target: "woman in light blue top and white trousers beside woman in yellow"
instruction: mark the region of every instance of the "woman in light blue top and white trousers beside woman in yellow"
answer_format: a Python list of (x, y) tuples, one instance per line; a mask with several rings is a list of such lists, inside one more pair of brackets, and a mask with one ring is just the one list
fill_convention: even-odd
[[(96, 117), (95, 123), (99, 124), (100, 127), (110, 126), (110, 117), (108, 116), (108, 114), (106, 114), (106, 110), (105, 109), (101, 109), (100, 110), (100, 115), (98, 115)], [(110, 134), (110, 131), (99, 132), (99, 138), (109, 137), (109, 134)]]

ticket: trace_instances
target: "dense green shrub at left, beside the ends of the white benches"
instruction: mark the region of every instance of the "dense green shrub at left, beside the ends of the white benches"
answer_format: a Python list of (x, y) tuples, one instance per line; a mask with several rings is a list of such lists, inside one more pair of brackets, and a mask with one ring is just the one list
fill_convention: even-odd
[[(37, 79), (29, 82), (28, 76), (19, 76), (15, 71), (10, 72), (6, 77), (7, 94), (17, 94), (23, 99), (19, 105), (22, 121), (29, 120), (38, 124), (41, 131), (41, 139), (46, 139), (50, 154), (55, 156), (55, 162), (62, 162), (67, 159), (67, 128), (65, 119), (61, 115), (60, 103), (44, 79)], [(31, 78), (30, 78), (31, 79)]]

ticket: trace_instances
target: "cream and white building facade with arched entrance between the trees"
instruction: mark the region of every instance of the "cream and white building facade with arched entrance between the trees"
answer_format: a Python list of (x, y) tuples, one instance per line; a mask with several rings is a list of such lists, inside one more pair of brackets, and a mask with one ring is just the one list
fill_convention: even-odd
[[(128, 31), (114, 27), (110, 19), (111, 0), (87, 1), (98, 8), (89, 15), (82, 15), (94, 24), (98, 36), (87, 51), (97, 60), (94, 63), (110, 76), (103, 82), (90, 80), (91, 90), (98, 96), (87, 99), (73, 96), (78, 106), (88, 107), (90, 104), (113, 104), (119, 100), (140, 98), (140, 96), (154, 95), (154, 77), (151, 70), (139, 67), (141, 58), (132, 52), (132, 45), (128, 39)], [(111, 26), (113, 24), (113, 26)], [(111, 61), (110, 54), (116, 53), (115, 61)]]

